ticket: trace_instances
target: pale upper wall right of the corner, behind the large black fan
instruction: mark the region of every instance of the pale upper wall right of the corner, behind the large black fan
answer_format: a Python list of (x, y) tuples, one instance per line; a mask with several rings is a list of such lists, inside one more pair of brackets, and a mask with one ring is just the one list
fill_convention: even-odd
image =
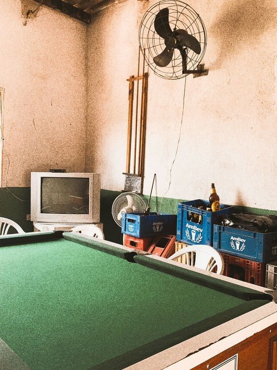
[[(88, 27), (86, 170), (101, 173), (104, 189), (124, 187), (126, 79), (137, 74), (139, 23), (154, 2), (117, 4)], [(205, 199), (214, 182), (222, 203), (277, 209), (275, 2), (189, 4), (206, 26), (209, 74), (167, 81), (148, 70), (144, 193), (154, 173), (166, 193), (181, 129), (166, 197)]]

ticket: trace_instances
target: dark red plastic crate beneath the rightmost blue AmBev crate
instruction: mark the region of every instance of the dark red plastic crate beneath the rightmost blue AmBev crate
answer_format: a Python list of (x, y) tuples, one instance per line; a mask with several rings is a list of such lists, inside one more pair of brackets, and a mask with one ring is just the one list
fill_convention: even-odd
[(251, 284), (265, 286), (266, 263), (254, 262), (226, 253), (221, 253), (221, 255), (224, 260), (223, 275)]

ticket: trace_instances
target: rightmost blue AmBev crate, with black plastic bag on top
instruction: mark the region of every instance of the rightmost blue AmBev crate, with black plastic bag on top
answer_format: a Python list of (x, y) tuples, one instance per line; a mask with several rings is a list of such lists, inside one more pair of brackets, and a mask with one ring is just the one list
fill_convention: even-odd
[(214, 248), (255, 262), (277, 260), (277, 232), (256, 233), (227, 226), (214, 226)]

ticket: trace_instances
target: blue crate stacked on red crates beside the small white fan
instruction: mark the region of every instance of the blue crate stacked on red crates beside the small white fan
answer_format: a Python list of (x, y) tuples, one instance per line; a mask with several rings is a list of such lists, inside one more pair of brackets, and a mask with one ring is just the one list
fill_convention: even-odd
[(164, 213), (123, 213), (121, 231), (124, 246), (169, 257), (175, 251), (176, 220), (176, 215)]

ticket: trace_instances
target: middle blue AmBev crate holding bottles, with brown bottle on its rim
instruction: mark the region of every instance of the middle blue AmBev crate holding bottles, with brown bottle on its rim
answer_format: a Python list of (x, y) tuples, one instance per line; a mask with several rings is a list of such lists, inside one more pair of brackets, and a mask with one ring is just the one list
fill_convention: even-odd
[[(223, 217), (228, 216), (233, 207), (221, 204), (216, 212), (199, 210), (198, 207), (210, 207), (206, 200), (196, 199), (178, 204), (177, 212), (177, 240), (187, 244), (213, 245), (214, 224), (220, 223)], [(190, 214), (201, 215), (200, 223), (189, 219)]]

